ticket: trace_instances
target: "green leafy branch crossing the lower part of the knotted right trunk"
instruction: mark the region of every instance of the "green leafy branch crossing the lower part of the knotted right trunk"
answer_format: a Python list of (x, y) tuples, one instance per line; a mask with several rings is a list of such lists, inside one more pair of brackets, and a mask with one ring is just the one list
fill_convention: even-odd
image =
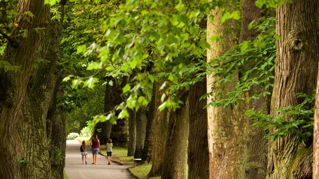
[(297, 98), (303, 99), (303, 102), (296, 106), (289, 105), (276, 109), (277, 115), (274, 117), (254, 109), (246, 111), (246, 114), (255, 122), (253, 127), (263, 127), (270, 131), (266, 138), (271, 138), (271, 141), (284, 138), (288, 134), (296, 134), (297, 141), (302, 142), (313, 135), (315, 94), (310, 97), (299, 93)]

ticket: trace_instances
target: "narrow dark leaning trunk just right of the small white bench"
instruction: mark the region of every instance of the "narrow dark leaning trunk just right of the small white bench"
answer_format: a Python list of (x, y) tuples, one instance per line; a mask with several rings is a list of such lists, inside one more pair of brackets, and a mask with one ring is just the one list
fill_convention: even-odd
[[(158, 90), (158, 89), (157, 89)], [(156, 89), (154, 89), (153, 83), (153, 90), (152, 90), (152, 99), (148, 106), (147, 112), (147, 125), (146, 125), (146, 135), (145, 135), (145, 142), (144, 148), (142, 152), (142, 160), (141, 163), (150, 162), (153, 157), (153, 145), (154, 145), (154, 132), (155, 132), (155, 94)]]

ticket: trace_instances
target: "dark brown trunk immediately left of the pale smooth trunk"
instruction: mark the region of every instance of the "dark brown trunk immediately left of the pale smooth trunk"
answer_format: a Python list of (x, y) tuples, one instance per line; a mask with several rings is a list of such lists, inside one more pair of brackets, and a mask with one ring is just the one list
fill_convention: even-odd
[(206, 78), (189, 87), (188, 179), (209, 178)]

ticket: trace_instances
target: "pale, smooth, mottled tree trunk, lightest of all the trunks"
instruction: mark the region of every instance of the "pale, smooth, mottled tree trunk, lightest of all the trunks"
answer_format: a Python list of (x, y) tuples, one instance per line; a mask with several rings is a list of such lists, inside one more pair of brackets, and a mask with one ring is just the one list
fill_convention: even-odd
[[(230, 11), (233, 7), (230, 7)], [(207, 22), (207, 39), (211, 44), (211, 49), (207, 50), (207, 60), (218, 58), (225, 54), (231, 48), (231, 40), (234, 39), (235, 33), (228, 32), (229, 26), (235, 26), (233, 19), (221, 23), (222, 14), (219, 8), (211, 12), (214, 15), (214, 21)], [(219, 42), (211, 42), (211, 36), (223, 36), (226, 40)], [(212, 83), (221, 77), (209, 75), (207, 76), (207, 92), (211, 92), (214, 88)], [(233, 91), (238, 75), (234, 75), (232, 82), (222, 84), (224, 91), (212, 91), (212, 97), (207, 98), (207, 102), (216, 99), (218, 93)], [(216, 84), (217, 85), (217, 84)], [(215, 86), (216, 86), (215, 85)], [(247, 97), (247, 96), (246, 96)], [(211, 178), (244, 178), (244, 151), (247, 148), (248, 128), (249, 123), (244, 114), (247, 109), (245, 103), (234, 106), (232, 110), (230, 107), (214, 107), (207, 108), (208, 115), (208, 146), (210, 158), (210, 177)]]

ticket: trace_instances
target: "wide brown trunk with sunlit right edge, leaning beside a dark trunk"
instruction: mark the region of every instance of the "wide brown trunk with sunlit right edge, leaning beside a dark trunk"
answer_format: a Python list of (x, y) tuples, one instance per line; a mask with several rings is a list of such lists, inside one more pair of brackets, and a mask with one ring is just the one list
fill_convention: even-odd
[(187, 146), (189, 134), (189, 91), (179, 89), (176, 97), (182, 100), (180, 108), (171, 111), (162, 168), (162, 179), (187, 178)]

